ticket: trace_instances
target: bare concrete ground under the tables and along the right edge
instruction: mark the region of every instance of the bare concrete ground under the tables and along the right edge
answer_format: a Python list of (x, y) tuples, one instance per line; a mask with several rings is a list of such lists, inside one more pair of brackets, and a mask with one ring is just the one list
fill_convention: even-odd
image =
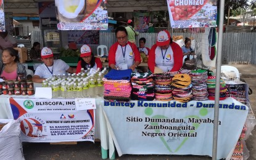
[[(256, 114), (256, 65), (233, 65), (241, 73), (253, 94), (249, 95), (250, 105), (254, 114)], [(249, 150), (249, 160), (256, 159), (256, 127), (252, 131), (252, 135), (246, 140), (246, 146)], [(100, 142), (78, 142), (77, 145), (50, 145), (49, 143), (23, 143), (23, 153), (25, 159), (36, 160), (57, 160), (57, 159), (101, 159), (101, 143)], [(131, 155), (126, 154), (116, 159), (212, 159), (207, 156), (170, 156), (170, 155)]]

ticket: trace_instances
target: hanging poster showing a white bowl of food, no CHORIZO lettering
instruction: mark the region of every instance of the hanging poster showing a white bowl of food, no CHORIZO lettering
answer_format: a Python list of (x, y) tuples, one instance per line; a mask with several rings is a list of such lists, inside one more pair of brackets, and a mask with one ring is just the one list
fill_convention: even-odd
[(59, 30), (107, 30), (105, 0), (56, 0)]

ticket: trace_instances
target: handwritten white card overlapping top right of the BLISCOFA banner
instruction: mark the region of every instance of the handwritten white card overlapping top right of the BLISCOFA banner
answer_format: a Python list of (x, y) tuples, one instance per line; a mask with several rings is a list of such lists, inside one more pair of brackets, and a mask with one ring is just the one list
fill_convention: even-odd
[(96, 109), (95, 98), (75, 98), (76, 110), (94, 110)]

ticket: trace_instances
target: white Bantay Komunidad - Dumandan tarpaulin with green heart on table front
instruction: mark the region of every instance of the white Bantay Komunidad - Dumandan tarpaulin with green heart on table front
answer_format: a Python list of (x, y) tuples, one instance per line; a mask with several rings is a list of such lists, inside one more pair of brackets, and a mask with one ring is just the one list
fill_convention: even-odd
[[(102, 102), (103, 103), (103, 102)], [(194, 154), (212, 156), (214, 101), (104, 102), (119, 156)], [(248, 107), (233, 98), (220, 101), (218, 159), (228, 157), (241, 134)]]

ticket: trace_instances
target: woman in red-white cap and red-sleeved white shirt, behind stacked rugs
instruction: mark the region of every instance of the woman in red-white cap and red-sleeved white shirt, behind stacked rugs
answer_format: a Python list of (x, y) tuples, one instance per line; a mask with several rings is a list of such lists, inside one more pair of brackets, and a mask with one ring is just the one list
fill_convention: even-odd
[(178, 71), (183, 65), (181, 47), (172, 41), (170, 33), (162, 30), (157, 34), (157, 43), (151, 47), (147, 64), (152, 73), (155, 66), (165, 71)]

